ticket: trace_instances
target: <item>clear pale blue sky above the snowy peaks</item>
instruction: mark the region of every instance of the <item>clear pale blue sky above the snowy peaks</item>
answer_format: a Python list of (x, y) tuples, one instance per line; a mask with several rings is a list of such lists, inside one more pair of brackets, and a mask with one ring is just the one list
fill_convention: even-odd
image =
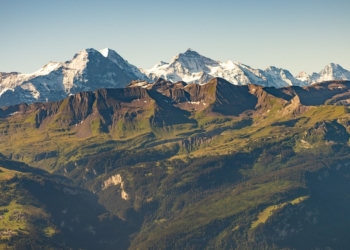
[(0, 0), (0, 72), (109, 47), (150, 68), (192, 48), (212, 59), (350, 70), (350, 0)]

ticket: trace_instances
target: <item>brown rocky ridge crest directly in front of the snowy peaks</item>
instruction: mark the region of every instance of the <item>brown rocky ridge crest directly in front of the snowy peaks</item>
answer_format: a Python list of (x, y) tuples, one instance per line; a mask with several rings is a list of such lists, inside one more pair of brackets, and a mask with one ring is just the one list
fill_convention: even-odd
[[(266, 98), (278, 99), (285, 105), (294, 103), (293, 105), (305, 107), (349, 106), (350, 81), (328, 81), (306, 87), (290, 86), (276, 89), (254, 84), (233, 85), (223, 78), (213, 78), (203, 85), (173, 83), (159, 78), (155, 83), (135, 81), (125, 88), (78, 92), (56, 102), (38, 102), (30, 105), (22, 103), (3, 107), (0, 108), (0, 118), (37, 111), (34, 122), (39, 128), (45, 119), (52, 122), (50, 117), (53, 115), (56, 116), (55, 122), (59, 122), (60, 126), (85, 126), (80, 123), (93, 116), (100, 117), (100, 126), (105, 127), (105, 131), (110, 131), (111, 128), (107, 127), (121, 117), (132, 120), (140, 115), (142, 117), (147, 112), (157, 117), (157, 110), (164, 107), (171, 108), (174, 112), (177, 112), (175, 109), (186, 112), (205, 111), (239, 117), (246, 111), (258, 112), (260, 109), (266, 111), (272, 108), (271, 101), (267, 101)], [(57, 114), (60, 114), (59, 117)]]

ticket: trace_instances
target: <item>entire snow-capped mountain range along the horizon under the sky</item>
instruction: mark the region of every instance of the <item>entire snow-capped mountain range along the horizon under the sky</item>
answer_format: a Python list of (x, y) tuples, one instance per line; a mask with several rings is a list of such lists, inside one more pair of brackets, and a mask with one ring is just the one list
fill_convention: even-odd
[(81, 91), (124, 87), (134, 80), (152, 83), (159, 78), (171, 82), (205, 84), (221, 77), (234, 85), (265, 87), (309, 86), (329, 80), (349, 80), (350, 72), (330, 63), (320, 73), (301, 72), (270, 66), (265, 70), (227, 61), (220, 62), (188, 49), (169, 63), (159, 62), (151, 69), (139, 69), (111, 49), (85, 49), (72, 60), (49, 62), (31, 74), (0, 73), (0, 106), (61, 100)]

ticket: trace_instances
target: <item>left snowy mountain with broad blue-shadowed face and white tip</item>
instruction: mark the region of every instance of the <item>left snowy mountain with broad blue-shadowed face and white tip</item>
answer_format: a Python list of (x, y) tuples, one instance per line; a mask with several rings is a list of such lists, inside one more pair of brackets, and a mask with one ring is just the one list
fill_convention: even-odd
[(123, 87), (135, 79), (147, 77), (115, 51), (86, 49), (32, 74), (0, 73), (0, 106), (55, 101), (80, 91)]

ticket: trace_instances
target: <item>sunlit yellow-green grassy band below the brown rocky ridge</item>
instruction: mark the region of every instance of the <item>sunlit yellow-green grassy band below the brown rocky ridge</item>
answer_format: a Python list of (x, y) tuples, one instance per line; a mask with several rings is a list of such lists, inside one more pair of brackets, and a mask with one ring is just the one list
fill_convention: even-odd
[[(62, 118), (61, 112), (66, 103), (62, 103), (57, 117)], [(271, 107), (270, 107), (271, 106)], [(5, 156), (12, 156), (12, 159), (25, 162), (31, 166), (43, 168), (53, 172), (61, 166), (75, 162), (79, 159), (106, 152), (108, 150), (137, 148), (140, 145), (153, 148), (154, 145), (174, 140), (179, 142), (188, 137), (211, 137), (212, 140), (205, 145), (197, 145), (189, 150), (180, 148), (174, 158), (183, 159), (190, 152), (194, 157), (205, 155), (225, 155), (238, 152), (251, 143), (259, 143), (261, 140), (280, 141), (304, 130), (304, 127), (313, 125), (317, 121), (346, 117), (348, 109), (342, 106), (320, 106), (312, 107), (302, 113), (300, 123), (293, 127), (271, 126), (277, 121), (287, 121), (289, 116), (282, 116), (283, 105), (269, 100), (269, 107), (262, 115), (255, 115), (251, 120), (252, 124), (239, 126), (244, 123), (242, 117), (230, 117), (208, 112), (207, 110), (192, 113), (190, 117), (193, 123), (181, 123), (176, 125), (164, 125), (156, 127), (150, 124), (150, 117), (154, 116), (153, 104), (145, 108), (145, 112), (138, 114), (135, 118), (121, 118), (115, 123), (110, 132), (101, 131), (100, 118), (93, 117), (84, 129), (91, 130), (85, 138), (77, 136), (78, 129), (75, 126), (66, 129), (57, 129), (55, 122), (49, 122), (44, 128), (33, 127), (36, 113), (33, 112), (27, 117), (10, 117), (0, 123), (0, 152)], [(126, 110), (132, 114), (132, 109)], [(250, 118), (249, 118), (250, 119)], [(245, 123), (244, 123), (245, 124)], [(58, 123), (56, 125), (59, 125)], [(238, 126), (238, 127), (237, 127)], [(300, 128), (302, 126), (302, 128)], [(90, 134), (91, 132), (91, 134)], [(153, 134), (154, 138), (145, 138), (145, 134)], [(111, 143), (111, 141), (113, 143)], [(108, 145), (104, 145), (104, 144)], [(181, 143), (179, 143), (181, 146)], [(303, 145), (302, 145), (303, 146)], [(50, 158), (36, 159), (38, 152), (57, 152), (56, 156)], [(8, 178), (5, 174), (4, 177)]]

